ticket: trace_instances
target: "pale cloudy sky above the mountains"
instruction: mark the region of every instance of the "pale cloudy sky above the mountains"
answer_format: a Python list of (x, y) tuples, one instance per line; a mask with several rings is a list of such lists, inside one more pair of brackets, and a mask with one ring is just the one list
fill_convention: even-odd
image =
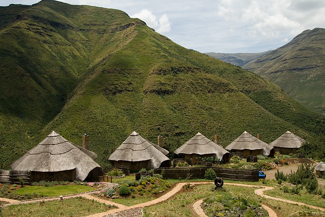
[[(38, 0), (1, 0), (31, 5)], [(200, 52), (263, 52), (303, 30), (325, 28), (324, 0), (62, 0), (114, 8), (144, 20), (156, 32)]]

